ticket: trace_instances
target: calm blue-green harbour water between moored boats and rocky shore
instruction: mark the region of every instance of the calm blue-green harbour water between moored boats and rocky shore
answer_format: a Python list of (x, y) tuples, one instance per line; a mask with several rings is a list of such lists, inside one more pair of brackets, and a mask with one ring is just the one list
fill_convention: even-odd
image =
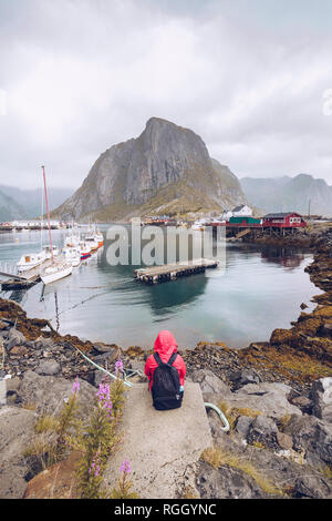
[[(60, 247), (64, 236), (52, 232)], [(39, 252), (40, 238), (40, 232), (1, 234), (0, 262), (14, 264)], [(200, 340), (230, 347), (268, 340), (272, 329), (298, 318), (301, 303), (311, 305), (320, 293), (303, 270), (312, 256), (295, 249), (228, 243), (225, 274), (211, 269), (146, 286), (133, 279), (133, 266), (108, 265), (108, 245), (65, 279), (1, 296), (19, 302), (30, 317), (51, 319), (61, 334), (151, 347), (160, 329), (169, 329), (184, 348)]]

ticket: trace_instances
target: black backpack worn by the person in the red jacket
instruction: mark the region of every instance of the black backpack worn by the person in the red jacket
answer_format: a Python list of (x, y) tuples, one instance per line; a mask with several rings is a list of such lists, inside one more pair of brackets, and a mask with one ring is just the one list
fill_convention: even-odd
[(174, 353), (167, 364), (165, 364), (159, 354), (154, 354), (158, 364), (154, 371), (152, 395), (153, 403), (157, 410), (178, 409), (183, 402), (183, 392), (179, 387), (179, 376), (177, 369), (173, 366), (177, 353)]

